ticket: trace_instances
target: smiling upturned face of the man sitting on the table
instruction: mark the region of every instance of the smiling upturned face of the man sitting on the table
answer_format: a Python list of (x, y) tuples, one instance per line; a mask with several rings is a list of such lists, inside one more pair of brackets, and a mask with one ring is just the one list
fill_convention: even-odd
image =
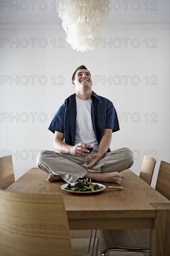
[(92, 77), (87, 69), (78, 69), (78, 71), (75, 74), (75, 80), (72, 81), (72, 85), (75, 88), (80, 87), (92, 87)]

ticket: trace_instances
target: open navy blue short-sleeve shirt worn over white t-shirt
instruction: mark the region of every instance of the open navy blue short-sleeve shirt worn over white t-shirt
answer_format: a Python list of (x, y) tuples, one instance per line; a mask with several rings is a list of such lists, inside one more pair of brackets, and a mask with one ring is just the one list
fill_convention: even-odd
[[(76, 94), (69, 96), (63, 105), (59, 108), (52, 119), (49, 130), (55, 133), (58, 131), (64, 134), (65, 143), (75, 145), (76, 137)], [(96, 135), (98, 144), (104, 135), (105, 129), (112, 129), (112, 132), (119, 130), (118, 116), (113, 103), (108, 99), (98, 96), (92, 92), (92, 126)], [(107, 152), (110, 152), (110, 148)]]

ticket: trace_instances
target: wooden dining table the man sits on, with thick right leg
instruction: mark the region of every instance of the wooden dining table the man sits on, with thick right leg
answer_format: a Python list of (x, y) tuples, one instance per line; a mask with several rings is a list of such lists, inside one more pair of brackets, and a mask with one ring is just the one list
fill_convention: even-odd
[(63, 196), (70, 229), (152, 229), (150, 256), (170, 252), (170, 201), (131, 170), (124, 170), (123, 190), (100, 182), (106, 189), (91, 195), (78, 195), (60, 189), (65, 182), (47, 182), (48, 174), (32, 168), (8, 190), (22, 195), (39, 193)]

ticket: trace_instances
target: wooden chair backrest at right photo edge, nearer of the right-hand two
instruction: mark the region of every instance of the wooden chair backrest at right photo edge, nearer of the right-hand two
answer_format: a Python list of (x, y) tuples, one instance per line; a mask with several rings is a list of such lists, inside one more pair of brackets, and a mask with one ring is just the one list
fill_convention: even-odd
[(170, 163), (161, 161), (155, 189), (170, 200)]

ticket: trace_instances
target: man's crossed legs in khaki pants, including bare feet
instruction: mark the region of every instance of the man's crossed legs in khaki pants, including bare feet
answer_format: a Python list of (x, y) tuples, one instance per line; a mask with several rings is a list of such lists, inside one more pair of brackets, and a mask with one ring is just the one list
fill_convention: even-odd
[(42, 151), (37, 158), (40, 169), (50, 173), (49, 182), (64, 180), (65, 182), (76, 182), (78, 178), (88, 178), (98, 182), (115, 182), (122, 184), (123, 175), (121, 171), (130, 168), (133, 157), (129, 148), (106, 153), (93, 169), (81, 166), (84, 158), (69, 154), (56, 153), (54, 151)]

